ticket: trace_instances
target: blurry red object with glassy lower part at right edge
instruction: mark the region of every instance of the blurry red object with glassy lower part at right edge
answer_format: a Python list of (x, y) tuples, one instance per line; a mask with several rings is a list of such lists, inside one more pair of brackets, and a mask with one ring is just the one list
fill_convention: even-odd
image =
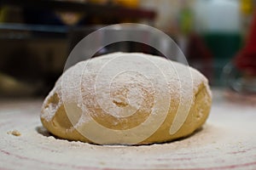
[(231, 91), (240, 94), (241, 99), (256, 101), (256, 13), (245, 46), (224, 67), (224, 77)]

